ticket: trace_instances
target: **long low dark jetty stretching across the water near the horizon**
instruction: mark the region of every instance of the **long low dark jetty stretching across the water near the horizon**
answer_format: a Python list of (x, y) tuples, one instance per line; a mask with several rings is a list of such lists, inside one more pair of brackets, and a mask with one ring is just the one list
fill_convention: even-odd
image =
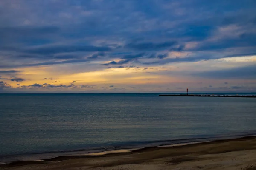
[(159, 96), (183, 96), (183, 97), (248, 97), (248, 98), (256, 98), (256, 95), (224, 95), (224, 94), (160, 94)]

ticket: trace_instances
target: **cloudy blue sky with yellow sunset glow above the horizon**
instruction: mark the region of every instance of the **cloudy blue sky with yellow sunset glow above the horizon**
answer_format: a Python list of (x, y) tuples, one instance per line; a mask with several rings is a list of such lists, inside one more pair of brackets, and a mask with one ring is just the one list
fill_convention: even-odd
[(256, 0), (1, 0), (0, 93), (255, 92)]

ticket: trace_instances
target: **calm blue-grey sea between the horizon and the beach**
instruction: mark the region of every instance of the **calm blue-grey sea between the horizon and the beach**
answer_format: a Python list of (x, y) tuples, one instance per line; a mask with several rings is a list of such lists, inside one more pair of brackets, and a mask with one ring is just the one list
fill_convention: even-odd
[(0, 163), (251, 134), (256, 98), (0, 94)]

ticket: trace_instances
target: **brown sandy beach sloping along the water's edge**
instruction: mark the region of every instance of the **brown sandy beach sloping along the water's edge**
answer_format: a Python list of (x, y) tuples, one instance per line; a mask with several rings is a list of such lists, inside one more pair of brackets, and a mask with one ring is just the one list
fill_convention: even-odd
[(256, 170), (256, 137), (13, 162), (1, 170)]

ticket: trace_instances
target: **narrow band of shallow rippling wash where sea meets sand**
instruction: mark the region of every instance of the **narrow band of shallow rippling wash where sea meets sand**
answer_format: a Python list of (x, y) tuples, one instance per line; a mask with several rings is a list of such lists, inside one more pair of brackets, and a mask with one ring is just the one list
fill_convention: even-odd
[[(0, 166), (3, 164), (12, 164), (13, 162), (34, 162), (38, 160), (55, 159), (62, 156), (94, 156), (102, 153), (112, 154), (119, 152), (119, 150), (125, 150), (124, 152), (130, 152), (132, 150), (138, 150), (141, 148), (154, 148), (154, 147), (173, 147), (183, 146), (188, 144), (204, 143), (218, 140), (233, 140), (243, 137), (253, 137), (256, 133), (238, 133), (233, 135), (220, 135), (212, 137), (202, 138), (186, 138), (186, 139), (173, 139), (173, 140), (158, 140), (148, 142), (138, 142), (138, 144), (123, 145), (123, 146), (106, 146), (106, 147), (93, 147), (81, 150), (69, 150), (69, 151), (52, 151), (45, 153), (27, 153), (17, 155), (0, 156)], [(143, 143), (143, 144), (142, 144)], [(120, 152), (119, 152), (120, 153)]]

